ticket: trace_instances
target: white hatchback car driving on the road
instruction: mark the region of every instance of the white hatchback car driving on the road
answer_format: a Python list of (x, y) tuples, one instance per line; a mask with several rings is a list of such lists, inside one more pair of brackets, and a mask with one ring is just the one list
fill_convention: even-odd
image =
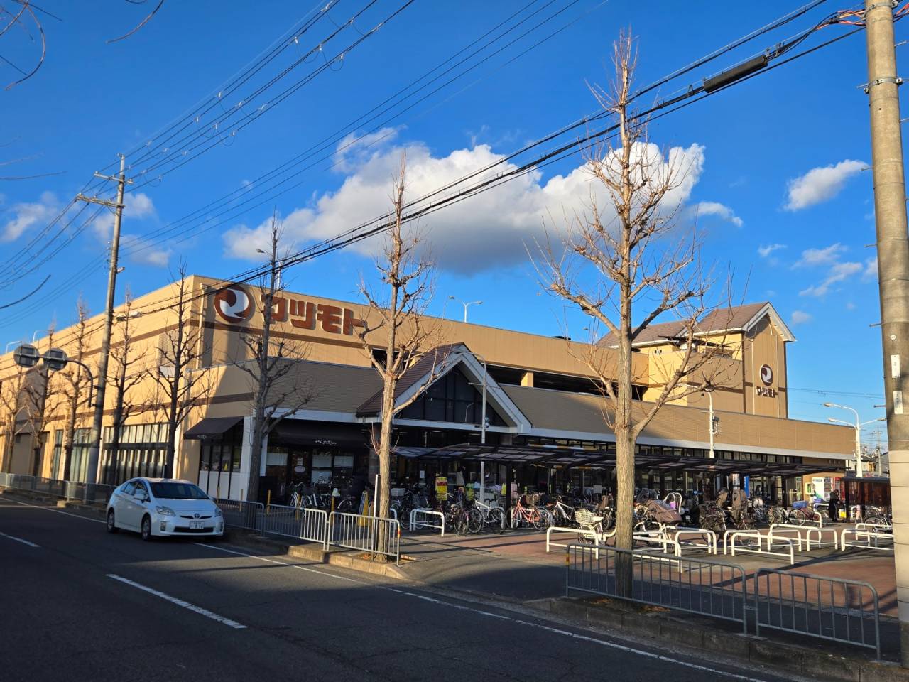
[(107, 503), (107, 532), (137, 530), (143, 540), (215, 536), (225, 532), (221, 509), (202, 488), (176, 478), (132, 478)]

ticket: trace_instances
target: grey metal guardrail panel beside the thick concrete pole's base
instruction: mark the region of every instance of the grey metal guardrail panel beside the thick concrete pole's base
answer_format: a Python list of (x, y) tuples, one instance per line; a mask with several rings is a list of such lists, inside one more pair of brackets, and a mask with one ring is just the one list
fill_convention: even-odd
[(759, 568), (754, 608), (757, 635), (764, 627), (821, 637), (872, 648), (881, 659), (880, 610), (870, 583)]

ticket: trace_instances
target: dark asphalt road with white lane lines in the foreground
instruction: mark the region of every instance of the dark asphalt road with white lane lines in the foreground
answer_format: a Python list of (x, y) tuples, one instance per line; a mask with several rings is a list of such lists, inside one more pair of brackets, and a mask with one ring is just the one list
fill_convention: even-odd
[(0, 499), (0, 679), (774, 682), (470, 597)]

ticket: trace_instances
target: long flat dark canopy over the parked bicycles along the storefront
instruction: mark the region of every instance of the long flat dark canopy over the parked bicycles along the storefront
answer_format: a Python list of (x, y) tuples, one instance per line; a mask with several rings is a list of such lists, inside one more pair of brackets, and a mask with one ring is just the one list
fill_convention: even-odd
[[(421, 455), (439, 460), (495, 462), (499, 464), (530, 464), (537, 466), (615, 466), (615, 453), (564, 446), (478, 446), (459, 445), (440, 447)], [(717, 457), (643, 455), (634, 456), (634, 468), (652, 471), (704, 471), (714, 474), (744, 476), (803, 476), (829, 471), (830, 466), (761, 462), (749, 459)]]

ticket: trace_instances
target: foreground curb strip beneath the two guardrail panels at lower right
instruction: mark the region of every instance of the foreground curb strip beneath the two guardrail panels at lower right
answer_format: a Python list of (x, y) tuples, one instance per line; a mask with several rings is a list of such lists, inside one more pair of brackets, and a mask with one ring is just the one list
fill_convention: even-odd
[(777, 673), (836, 682), (909, 682), (909, 668), (890, 661), (838, 656), (765, 637), (726, 632), (711, 627), (709, 620), (692, 627), (690, 620), (664, 612), (637, 613), (605, 604), (589, 604), (575, 597), (534, 599), (524, 602), (524, 606), (653, 639), (656, 645), (668, 641), (681, 647), (734, 657)]

